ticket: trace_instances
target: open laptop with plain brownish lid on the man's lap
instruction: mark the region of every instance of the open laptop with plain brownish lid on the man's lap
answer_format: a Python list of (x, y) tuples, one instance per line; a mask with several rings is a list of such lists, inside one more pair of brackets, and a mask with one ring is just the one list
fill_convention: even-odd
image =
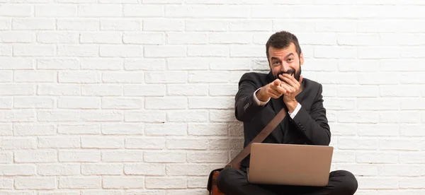
[(332, 146), (252, 143), (248, 182), (324, 187), (333, 152)]

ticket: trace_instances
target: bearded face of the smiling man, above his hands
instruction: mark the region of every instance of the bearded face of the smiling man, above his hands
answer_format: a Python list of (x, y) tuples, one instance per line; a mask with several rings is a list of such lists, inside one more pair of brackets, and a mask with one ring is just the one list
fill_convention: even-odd
[(268, 48), (268, 63), (273, 76), (279, 78), (278, 75), (283, 73), (292, 74), (297, 81), (300, 81), (301, 65), (304, 63), (302, 53), (298, 57), (295, 45), (291, 42), (289, 47), (277, 49), (275, 47)]

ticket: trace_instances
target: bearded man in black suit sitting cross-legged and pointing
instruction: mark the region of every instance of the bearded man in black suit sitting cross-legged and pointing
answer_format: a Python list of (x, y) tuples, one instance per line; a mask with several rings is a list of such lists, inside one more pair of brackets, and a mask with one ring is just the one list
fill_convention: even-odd
[[(244, 146), (283, 108), (287, 117), (263, 143), (310, 144), (329, 146), (331, 132), (323, 107), (322, 85), (301, 76), (304, 62), (297, 37), (290, 32), (276, 32), (266, 43), (271, 71), (245, 73), (239, 81), (235, 97), (235, 115), (244, 122)], [(338, 170), (329, 174), (326, 187), (251, 184), (246, 169), (249, 156), (241, 169), (226, 168), (217, 177), (217, 187), (226, 195), (304, 194), (353, 195), (358, 183), (351, 172)]]

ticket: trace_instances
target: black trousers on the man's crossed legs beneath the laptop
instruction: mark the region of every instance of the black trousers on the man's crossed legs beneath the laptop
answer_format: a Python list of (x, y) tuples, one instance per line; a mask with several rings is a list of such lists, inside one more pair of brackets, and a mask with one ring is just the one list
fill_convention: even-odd
[(358, 183), (351, 172), (336, 170), (330, 173), (326, 187), (250, 184), (246, 172), (226, 168), (217, 177), (217, 187), (226, 195), (353, 195)]

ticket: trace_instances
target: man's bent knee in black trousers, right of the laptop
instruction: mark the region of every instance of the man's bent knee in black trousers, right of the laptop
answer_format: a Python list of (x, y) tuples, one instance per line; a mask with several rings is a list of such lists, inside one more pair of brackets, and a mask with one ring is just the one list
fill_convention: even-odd
[(353, 195), (356, 193), (358, 188), (358, 182), (356, 177), (346, 170), (336, 171), (336, 175), (339, 177), (339, 184), (335, 187), (335, 193), (339, 195)]

